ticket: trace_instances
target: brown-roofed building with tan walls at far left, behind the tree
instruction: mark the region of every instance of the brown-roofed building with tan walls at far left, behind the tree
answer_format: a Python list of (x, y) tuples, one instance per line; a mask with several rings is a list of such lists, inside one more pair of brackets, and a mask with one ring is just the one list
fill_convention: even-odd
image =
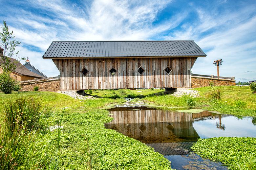
[[(3, 56), (3, 48), (0, 47), (0, 55)], [(31, 72), (24, 65), (18, 62), (16, 59), (9, 58), (12, 63), (16, 65), (16, 69), (12, 70), (10, 76), (17, 81), (33, 80), (34, 78), (45, 78), (39, 74)], [(0, 58), (0, 66), (2, 60)], [(0, 74), (3, 72), (3, 69), (0, 67)]]

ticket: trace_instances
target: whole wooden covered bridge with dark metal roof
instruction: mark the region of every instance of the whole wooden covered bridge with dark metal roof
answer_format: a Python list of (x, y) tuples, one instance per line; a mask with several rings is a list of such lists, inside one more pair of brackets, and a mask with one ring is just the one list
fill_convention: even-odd
[(60, 71), (61, 90), (191, 87), (206, 54), (194, 41), (53, 41), (43, 55)]

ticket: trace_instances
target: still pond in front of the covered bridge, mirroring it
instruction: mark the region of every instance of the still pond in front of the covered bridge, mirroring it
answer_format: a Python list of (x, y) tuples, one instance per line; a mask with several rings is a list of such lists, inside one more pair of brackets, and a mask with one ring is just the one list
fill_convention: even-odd
[(226, 169), (220, 162), (202, 159), (190, 152), (198, 138), (256, 137), (252, 117), (216, 114), (210, 111), (184, 113), (143, 106), (109, 109), (114, 118), (105, 124), (126, 136), (151, 146), (171, 161), (175, 169)]

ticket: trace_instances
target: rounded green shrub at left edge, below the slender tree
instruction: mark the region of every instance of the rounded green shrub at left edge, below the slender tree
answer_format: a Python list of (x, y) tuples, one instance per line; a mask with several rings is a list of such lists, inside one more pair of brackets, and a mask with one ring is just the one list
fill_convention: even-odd
[(14, 88), (15, 80), (11, 78), (9, 72), (0, 74), (0, 91), (10, 94)]

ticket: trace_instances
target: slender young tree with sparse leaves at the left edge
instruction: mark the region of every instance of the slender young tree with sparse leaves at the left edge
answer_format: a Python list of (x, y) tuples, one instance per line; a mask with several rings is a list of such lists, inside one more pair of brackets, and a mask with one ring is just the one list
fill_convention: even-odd
[[(15, 36), (12, 35), (13, 31), (9, 31), (9, 27), (6, 24), (6, 21), (3, 20), (2, 31), (0, 31), (0, 39), (1, 39), (1, 46), (4, 48), (4, 55), (0, 55), (1, 68), (4, 72), (9, 72), (11, 70), (16, 69), (15, 62), (11, 62), (10, 58), (13, 56), (17, 56), (18, 52), (15, 52), (15, 47), (20, 44), (19, 41), (16, 41), (14, 38)], [(24, 58), (22, 58), (24, 59)], [(20, 60), (18, 60), (19, 62)]]

